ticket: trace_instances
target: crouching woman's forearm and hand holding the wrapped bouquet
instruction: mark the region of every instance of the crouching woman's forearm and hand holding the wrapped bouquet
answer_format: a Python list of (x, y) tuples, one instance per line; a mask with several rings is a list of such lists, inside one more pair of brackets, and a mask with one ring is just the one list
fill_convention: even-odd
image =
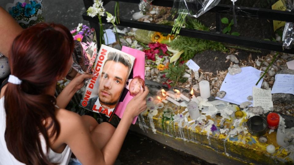
[(56, 105), (59, 108), (65, 108), (74, 94), (84, 86), (84, 79), (91, 79), (94, 76), (95, 75), (78, 74), (57, 96)]

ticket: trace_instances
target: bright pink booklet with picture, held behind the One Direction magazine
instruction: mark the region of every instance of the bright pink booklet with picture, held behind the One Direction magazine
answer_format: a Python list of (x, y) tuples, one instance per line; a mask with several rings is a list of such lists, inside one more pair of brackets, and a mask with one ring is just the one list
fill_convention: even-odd
[[(129, 79), (126, 82), (126, 86), (123, 90), (122, 97), (119, 104), (116, 107), (115, 114), (119, 118), (123, 117), (123, 112), (126, 109), (126, 105), (129, 101), (138, 93), (141, 89), (145, 89), (145, 53), (123, 46), (122, 52), (128, 53), (136, 58), (134, 67), (130, 73)], [(134, 118), (133, 124), (136, 123), (137, 117)]]

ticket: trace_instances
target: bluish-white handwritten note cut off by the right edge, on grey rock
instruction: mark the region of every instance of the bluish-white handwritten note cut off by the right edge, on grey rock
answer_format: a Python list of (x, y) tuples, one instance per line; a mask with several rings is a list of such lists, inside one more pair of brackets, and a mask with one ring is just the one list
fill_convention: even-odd
[(273, 83), (272, 94), (294, 94), (294, 75), (277, 74)]

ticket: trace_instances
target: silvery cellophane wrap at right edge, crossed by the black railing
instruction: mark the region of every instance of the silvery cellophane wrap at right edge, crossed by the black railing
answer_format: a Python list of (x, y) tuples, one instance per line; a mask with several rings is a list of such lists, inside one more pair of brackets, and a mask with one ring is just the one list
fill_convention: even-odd
[[(294, 0), (282, 0), (289, 12), (294, 12)], [(283, 32), (283, 48), (291, 49), (292, 41), (294, 39), (294, 23), (286, 22), (284, 32)]]

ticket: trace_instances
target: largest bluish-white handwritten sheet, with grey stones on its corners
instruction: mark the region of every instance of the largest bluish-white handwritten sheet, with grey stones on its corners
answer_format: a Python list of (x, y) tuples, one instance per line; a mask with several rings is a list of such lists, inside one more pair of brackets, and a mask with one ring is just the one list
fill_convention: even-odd
[[(227, 74), (221, 84), (220, 91), (227, 92), (224, 98), (216, 97), (216, 99), (228, 101), (234, 104), (240, 105), (241, 103), (248, 101), (247, 97), (252, 96), (252, 87), (260, 77), (262, 71), (253, 67), (241, 68), (241, 73), (236, 75)], [(263, 79), (258, 83), (257, 88), (261, 87)]]

